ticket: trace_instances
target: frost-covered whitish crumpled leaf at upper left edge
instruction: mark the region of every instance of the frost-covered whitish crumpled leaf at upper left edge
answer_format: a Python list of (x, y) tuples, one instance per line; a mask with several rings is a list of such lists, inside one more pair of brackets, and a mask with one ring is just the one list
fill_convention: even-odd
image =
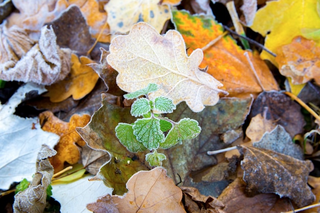
[(50, 85), (64, 79), (70, 72), (69, 49), (59, 48), (56, 44), (56, 35), (52, 27), (44, 26), (38, 44), (35, 44), (28, 53), (12, 67), (4, 68), (0, 72), (0, 79), (5, 81), (34, 82)]

